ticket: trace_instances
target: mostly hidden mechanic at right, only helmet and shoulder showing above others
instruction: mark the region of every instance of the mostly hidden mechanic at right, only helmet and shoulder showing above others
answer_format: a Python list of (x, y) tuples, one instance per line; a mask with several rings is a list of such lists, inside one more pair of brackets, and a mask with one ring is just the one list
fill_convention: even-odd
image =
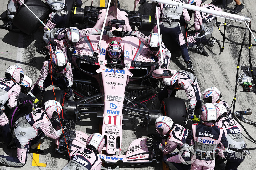
[(204, 103), (212, 103), (212, 104), (213, 103), (221, 103), (221, 104), (223, 104), (228, 111), (227, 118), (231, 119), (232, 118), (231, 109), (226, 101), (220, 100), (221, 97), (222, 97), (221, 92), (216, 87), (207, 88), (206, 90), (204, 90), (204, 93), (203, 93)]

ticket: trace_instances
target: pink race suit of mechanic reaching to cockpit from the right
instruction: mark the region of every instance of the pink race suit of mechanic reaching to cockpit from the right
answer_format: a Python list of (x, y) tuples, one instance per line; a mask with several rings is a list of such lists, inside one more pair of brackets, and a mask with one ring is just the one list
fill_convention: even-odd
[[(142, 41), (147, 48), (149, 48), (148, 46), (148, 37), (145, 36), (143, 33), (141, 33), (140, 31), (131, 31), (129, 36), (135, 36), (137, 37), (140, 41)], [(168, 69), (169, 63), (170, 63), (170, 59), (171, 59), (171, 53), (168, 50), (168, 48), (166, 48), (166, 46), (164, 45), (164, 43), (162, 42), (162, 54), (163, 54), (163, 61), (164, 61), (164, 68)], [(156, 55), (154, 55), (155, 57), (158, 57), (157, 62), (159, 64), (159, 69), (162, 68), (162, 62), (161, 62), (161, 54), (160, 54), (160, 50), (158, 51), (158, 53)]]

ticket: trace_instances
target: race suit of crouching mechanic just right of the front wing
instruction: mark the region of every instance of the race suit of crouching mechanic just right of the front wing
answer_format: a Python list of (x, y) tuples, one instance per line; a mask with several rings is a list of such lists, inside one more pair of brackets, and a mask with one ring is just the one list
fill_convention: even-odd
[[(175, 169), (173, 166), (177, 169), (179, 169), (179, 167), (184, 168), (184, 166), (188, 166), (187, 169), (189, 169), (190, 165), (188, 164), (190, 163), (186, 164), (186, 162), (191, 161), (190, 153), (193, 151), (193, 146), (186, 144), (187, 136), (188, 130), (181, 125), (175, 124), (174, 128), (169, 133), (165, 146), (162, 144), (159, 145), (160, 150), (165, 154), (163, 161), (170, 169)], [(173, 152), (176, 148), (178, 148), (180, 152)]]

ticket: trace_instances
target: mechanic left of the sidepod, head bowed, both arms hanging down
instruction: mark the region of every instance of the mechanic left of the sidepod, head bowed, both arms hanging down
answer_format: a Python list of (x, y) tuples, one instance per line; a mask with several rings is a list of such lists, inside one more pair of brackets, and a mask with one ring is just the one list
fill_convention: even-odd
[[(55, 51), (52, 53), (52, 61), (45, 61), (41, 69), (38, 81), (34, 85), (33, 94), (41, 93), (43, 96), (45, 88), (52, 85), (58, 86), (61, 90), (65, 90), (66, 98), (73, 99), (72, 85), (73, 85), (73, 73), (71, 64), (67, 61), (66, 54), (61, 51)], [(51, 80), (52, 72), (52, 80)]]

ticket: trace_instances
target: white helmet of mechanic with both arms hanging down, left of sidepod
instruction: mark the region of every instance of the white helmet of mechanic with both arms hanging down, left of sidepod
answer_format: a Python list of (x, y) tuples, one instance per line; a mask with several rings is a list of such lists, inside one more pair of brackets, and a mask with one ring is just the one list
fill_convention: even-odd
[(56, 71), (63, 71), (66, 68), (67, 63), (66, 53), (61, 50), (57, 50), (52, 53), (52, 66)]

